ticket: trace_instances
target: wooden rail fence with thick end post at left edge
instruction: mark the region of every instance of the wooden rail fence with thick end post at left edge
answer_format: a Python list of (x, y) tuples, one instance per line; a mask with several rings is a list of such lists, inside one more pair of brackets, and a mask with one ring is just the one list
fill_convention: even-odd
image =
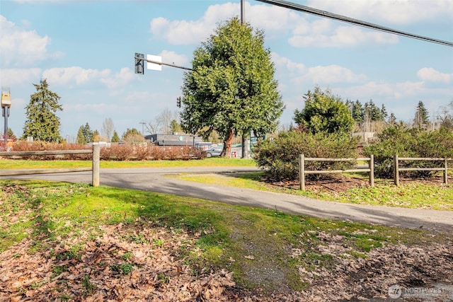
[(0, 156), (48, 156), (48, 155), (67, 155), (67, 154), (92, 154), (91, 168), (63, 168), (63, 169), (27, 169), (27, 170), (0, 170), (0, 176), (11, 175), (34, 175), (34, 174), (49, 174), (49, 173), (71, 173), (92, 171), (91, 185), (99, 186), (99, 158), (101, 154), (101, 146), (93, 144), (91, 150), (57, 150), (57, 151), (11, 151), (0, 152)]

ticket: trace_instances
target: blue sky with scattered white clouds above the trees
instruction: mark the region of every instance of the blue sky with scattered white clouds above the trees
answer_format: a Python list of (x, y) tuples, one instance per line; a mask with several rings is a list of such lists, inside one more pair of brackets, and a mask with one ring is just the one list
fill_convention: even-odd
[[(416, 35), (453, 41), (451, 0), (293, 0)], [(177, 112), (182, 69), (134, 74), (134, 53), (191, 66), (193, 51), (240, 0), (0, 0), (0, 85), (11, 89), (8, 127), (20, 136), (33, 83), (47, 79), (61, 99), (62, 137), (111, 118), (121, 136), (164, 110)], [(453, 47), (391, 35), (246, 1), (246, 22), (265, 33), (286, 110), (304, 108), (315, 86), (343, 100), (369, 100), (410, 121), (422, 100), (434, 118), (453, 100)], [(1, 119), (3, 133), (4, 121)]]

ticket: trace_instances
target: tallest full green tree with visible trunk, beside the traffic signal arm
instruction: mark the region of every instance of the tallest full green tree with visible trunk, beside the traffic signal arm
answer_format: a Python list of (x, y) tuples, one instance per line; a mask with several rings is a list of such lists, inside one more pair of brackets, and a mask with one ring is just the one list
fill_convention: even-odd
[(216, 131), (223, 155), (234, 135), (273, 132), (285, 108), (263, 45), (262, 31), (233, 18), (195, 50), (193, 71), (184, 75), (181, 127), (205, 138)]

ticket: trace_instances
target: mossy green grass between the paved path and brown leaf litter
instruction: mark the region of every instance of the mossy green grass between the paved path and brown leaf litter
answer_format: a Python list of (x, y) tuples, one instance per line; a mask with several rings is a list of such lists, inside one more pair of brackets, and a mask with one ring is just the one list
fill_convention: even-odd
[[(303, 289), (307, 284), (299, 277), (298, 267), (315, 270), (336, 263), (333, 255), (321, 255), (318, 250), (326, 236), (338, 236), (348, 257), (367, 257), (369, 250), (386, 244), (429, 244), (452, 237), (105, 186), (0, 180), (0, 187), (0, 252), (23, 238), (33, 240), (28, 252), (49, 250), (87, 232), (93, 232), (96, 238), (102, 226), (117, 223), (138, 228), (125, 240), (141, 243), (147, 238), (140, 235), (140, 225), (159, 226), (175, 233), (201, 234), (195, 245), (182, 245), (178, 252), (184, 263), (193, 267), (194, 274), (226, 268), (234, 272), (241, 286), (249, 288), (279, 286), (279, 281), (268, 275), (271, 271), (284, 276), (285, 284), (293, 289)], [(166, 242), (154, 240), (152, 244), (165, 246)], [(69, 249), (54, 256), (80, 259), (83, 246), (69, 245)], [(122, 261), (127, 262), (113, 267), (117, 274), (132, 272), (134, 265), (129, 258), (123, 255)], [(53, 276), (66, 269), (53, 267)], [(83, 285), (89, 294), (92, 287), (88, 277)]]

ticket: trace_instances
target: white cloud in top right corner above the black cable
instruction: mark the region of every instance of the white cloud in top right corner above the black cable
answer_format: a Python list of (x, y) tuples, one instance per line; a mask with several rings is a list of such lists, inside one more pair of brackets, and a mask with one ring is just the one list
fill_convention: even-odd
[(448, 20), (453, 15), (453, 1), (448, 0), (310, 0), (306, 6), (375, 23), (409, 24)]

